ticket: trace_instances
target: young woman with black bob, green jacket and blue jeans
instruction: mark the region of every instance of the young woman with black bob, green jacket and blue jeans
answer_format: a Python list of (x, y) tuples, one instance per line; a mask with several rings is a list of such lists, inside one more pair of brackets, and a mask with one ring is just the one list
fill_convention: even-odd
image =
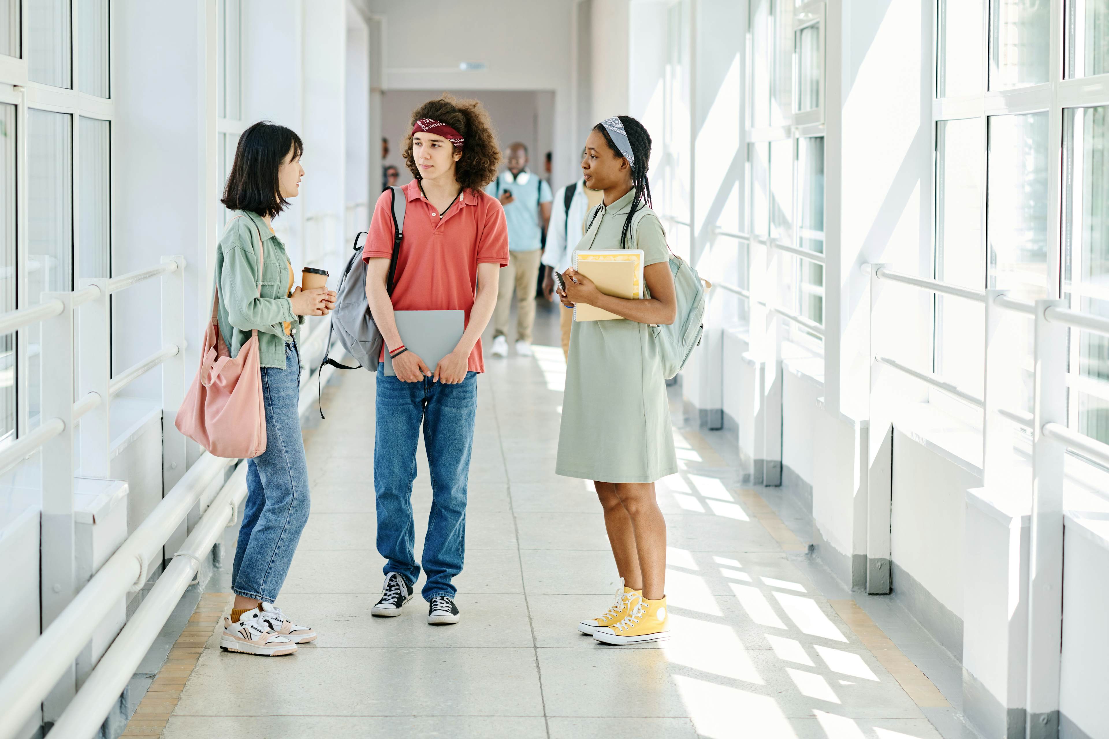
[(293, 266), (271, 220), (301, 192), (301, 137), (267, 121), (243, 132), (222, 203), (227, 225), (215, 253), (220, 335), (237, 356), (258, 332), (266, 451), (247, 461), (246, 509), (232, 568), (235, 603), (220, 646), (274, 656), (296, 651), (316, 633), (274, 605), (308, 521), (308, 469), (301, 437), (297, 327), (324, 316), (335, 294), (293, 287)]

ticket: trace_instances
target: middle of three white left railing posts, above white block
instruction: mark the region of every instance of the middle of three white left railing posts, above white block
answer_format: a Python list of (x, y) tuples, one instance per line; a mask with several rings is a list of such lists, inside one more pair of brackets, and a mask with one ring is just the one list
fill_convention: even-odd
[(78, 331), (78, 398), (90, 392), (100, 396), (101, 402), (81, 419), (78, 438), (81, 440), (81, 474), (85, 478), (111, 478), (111, 403), (109, 386), (112, 381), (112, 296), (108, 279), (83, 279), (81, 287), (95, 286), (100, 295), (77, 314)]

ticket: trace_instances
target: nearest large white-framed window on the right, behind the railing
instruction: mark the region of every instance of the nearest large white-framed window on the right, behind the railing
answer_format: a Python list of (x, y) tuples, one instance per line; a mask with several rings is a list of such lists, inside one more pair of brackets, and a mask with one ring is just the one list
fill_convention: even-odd
[[(1056, 39), (1042, 0), (937, 0), (935, 276), (1109, 316), (1109, 95), (1068, 82), (1109, 73), (1109, 2), (1066, 0), (1064, 17)], [(936, 372), (980, 397), (981, 306), (937, 298), (935, 317)], [(1010, 407), (1030, 411), (1020, 326)], [(1109, 342), (1074, 331), (1068, 382), (1071, 425), (1109, 441)]]

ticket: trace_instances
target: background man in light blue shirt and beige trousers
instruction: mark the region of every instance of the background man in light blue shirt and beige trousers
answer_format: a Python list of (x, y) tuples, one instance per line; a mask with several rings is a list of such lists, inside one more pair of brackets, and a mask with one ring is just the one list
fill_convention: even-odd
[(551, 217), (551, 188), (528, 171), (528, 147), (523, 144), (511, 144), (505, 160), (508, 171), (486, 187), (487, 193), (500, 201), (508, 223), (508, 266), (500, 275), (490, 353), (494, 357), (508, 355), (508, 319), (512, 310), (512, 290), (516, 290), (516, 353), (530, 357), (541, 238)]

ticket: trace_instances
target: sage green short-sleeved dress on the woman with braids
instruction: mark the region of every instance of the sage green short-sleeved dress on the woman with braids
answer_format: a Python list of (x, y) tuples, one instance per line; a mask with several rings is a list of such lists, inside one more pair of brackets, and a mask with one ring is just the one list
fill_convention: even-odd
[[(619, 249), (633, 197), (631, 191), (601, 205), (576, 250)], [(667, 261), (653, 212), (628, 234), (627, 248), (643, 250), (644, 267)], [(573, 322), (554, 471), (599, 482), (654, 482), (678, 472), (662, 362), (647, 324)]]

